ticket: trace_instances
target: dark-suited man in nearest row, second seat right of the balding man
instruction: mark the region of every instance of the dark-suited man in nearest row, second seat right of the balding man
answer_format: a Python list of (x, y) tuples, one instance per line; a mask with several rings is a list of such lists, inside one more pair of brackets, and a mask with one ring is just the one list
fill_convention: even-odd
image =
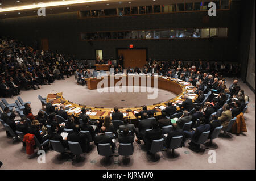
[(147, 154), (151, 154), (149, 150), (151, 148), (152, 141), (162, 138), (162, 130), (158, 128), (158, 123), (156, 121), (152, 122), (152, 127), (152, 130), (146, 131), (144, 137)]

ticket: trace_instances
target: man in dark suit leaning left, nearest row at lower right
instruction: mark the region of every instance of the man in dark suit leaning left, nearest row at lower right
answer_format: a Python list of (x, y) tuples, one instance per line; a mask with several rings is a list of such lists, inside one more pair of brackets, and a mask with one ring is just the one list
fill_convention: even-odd
[(198, 141), (201, 133), (206, 132), (206, 131), (210, 131), (210, 125), (205, 124), (205, 123), (206, 123), (206, 119), (204, 117), (201, 117), (200, 118), (200, 126), (197, 127), (195, 131), (192, 131), (192, 132), (184, 131), (184, 135), (185, 135), (186, 138), (191, 137), (191, 142), (189, 142), (189, 149), (191, 149), (193, 151), (196, 151), (196, 152), (201, 151), (200, 145), (197, 145), (194, 142)]

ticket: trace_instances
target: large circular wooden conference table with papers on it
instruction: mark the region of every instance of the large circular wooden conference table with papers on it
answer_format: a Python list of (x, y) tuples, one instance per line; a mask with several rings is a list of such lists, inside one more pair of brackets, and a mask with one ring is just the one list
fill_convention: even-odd
[[(158, 88), (159, 89), (164, 89), (167, 91), (171, 91), (174, 92), (175, 94), (177, 94), (177, 96), (173, 99), (169, 99), (166, 100), (165, 102), (159, 102), (153, 105), (146, 105), (147, 109), (150, 109), (153, 113), (154, 113), (154, 117), (159, 117), (162, 115), (161, 111), (163, 110), (163, 108), (165, 108), (167, 106), (168, 102), (173, 102), (175, 103), (182, 103), (185, 99), (184, 99), (184, 94), (188, 94), (189, 98), (191, 98), (192, 100), (195, 100), (197, 98), (197, 95), (194, 94), (194, 91), (196, 90), (196, 88), (194, 86), (192, 86), (189, 82), (184, 82), (181, 81), (179, 79), (175, 79), (175, 78), (170, 78), (170, 77), (151, 77), (149, 75), (118, 75), (118, 77), (114, 76), (108, 76), (108, 77), (98, 77), (98, 78), (87, 78), (87, 86), (88, 89), (97, 89), (97, 85), (100, 81), (102, 81), (102, 79), (105, 78), (105, 83), (108, 82), (108, 87), (109, 85), (116, 85), (116, 83), (121, 80), (121, 78), (126, 78), (126, 85), (128, 85), (128, 82), (132, 80), (133, 86), (138, 85), (141, 86), (143, 83), (143, 86), (145, 84), (145, 82), (143, 81), (144, 79), (146, 79), (146, 86), (147, 86), (147, 82), (148, 80), (151, 80), (151, 87), (154, 87), (154, 81), (158, 81)], [(144, 77), (143, 77), (144, 76)], [(113, 78), (113, 79), (111, 79)], [(112, 83), (111, 83), (112, 81)], [(131, 82), (130, 82), (131, 83)], [(119, 84), (118, 84), (119, 85)], [(103, 87), (104, 85), (102, 85), (101, 87)], [(148, 85), (150, 86), (150, 85)], [(57, 94), (48, 94), (47, 95), (47, 102), (49, 102), (49, 100), (53, 99), (54, 103), (53, 105), (61, 105), (64, 104), (65, 105), (65, 110), (68, 112), (68, 115), (72, 115), (74, 114), (76, 117), (79, 116), (79, 114), (81, 113), (81, 108), (85, 107), (87, 110), (87, 114), (89, 115), (90, 119), (93, 120), (104, 120), (104, 118), (107, 115), (111, 115), (111, 113), (113, 112), (113, 108), (104, 108), (104, 107), (89, 107), (89, 106), (85, 106), (82, 104), (77, 104), (77, 103), (73, 103), (69, 100), (66, 100), (63, 97), (63, 93), (57, 93)], [(180, 107), (177, 106), (177, 110), (180, 110)], [(129, 108), (119, 108), (119, 111), (123, 113), (124, 117), (128, 117), (129, 120), (137, 120), (137, 117), (135, 116), (135, 113), (142, 111), (142, 106), (135, 106), (135, 107), (129, 107)]]

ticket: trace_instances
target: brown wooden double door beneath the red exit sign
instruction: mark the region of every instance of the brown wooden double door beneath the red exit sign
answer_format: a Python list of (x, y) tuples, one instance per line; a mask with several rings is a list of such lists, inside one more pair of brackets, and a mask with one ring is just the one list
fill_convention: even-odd
[(118, 49), (123, 56), (123, 68), (143, 68), (146, 64), (146, 49)]

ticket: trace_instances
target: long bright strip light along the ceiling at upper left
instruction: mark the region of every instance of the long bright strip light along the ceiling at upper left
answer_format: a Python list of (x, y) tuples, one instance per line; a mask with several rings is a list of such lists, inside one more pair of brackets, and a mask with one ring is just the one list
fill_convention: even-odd
[[(40, 7), (51, 7), (51, 6), (64, 6), (64, 5), (77, 5), (81, 3), (89, 3), (89, 2), (102, 2), (102, 1), (109, 1), (109, 0), (68, 0), (68, 1), (54, 1), (54, 2), (46, 2), (43, 4), (31, 4), (19, 7), (8, 7), (3, 8), (0, 12), (7, 12), (7, 11), (18, 11), (18, 10), (28, 10), (28, 9), (39, 9)], [(87, 6), (88, 7), (88, 6)]]

